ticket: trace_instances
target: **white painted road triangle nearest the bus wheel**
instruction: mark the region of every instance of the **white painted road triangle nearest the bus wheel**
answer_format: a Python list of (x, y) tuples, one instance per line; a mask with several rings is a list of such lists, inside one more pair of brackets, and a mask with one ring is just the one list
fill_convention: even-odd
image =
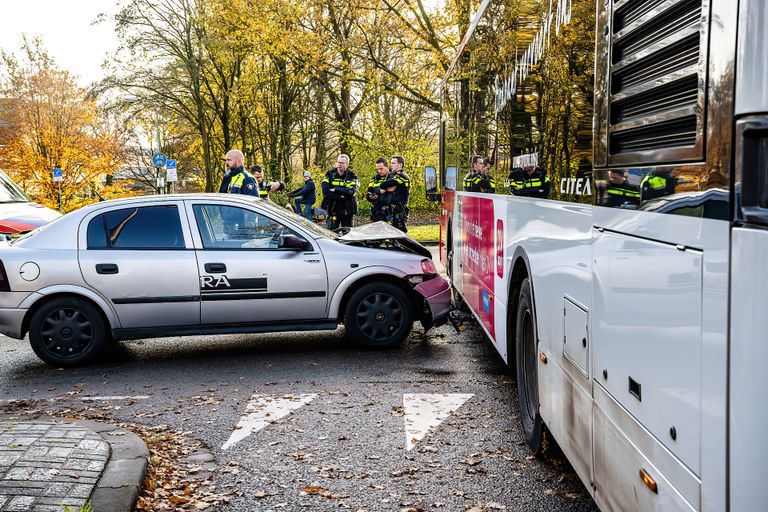
[(464, 402), (474, 395), (468, 393), (403, 395), (405, 412), (405, 448), (411, 450)]

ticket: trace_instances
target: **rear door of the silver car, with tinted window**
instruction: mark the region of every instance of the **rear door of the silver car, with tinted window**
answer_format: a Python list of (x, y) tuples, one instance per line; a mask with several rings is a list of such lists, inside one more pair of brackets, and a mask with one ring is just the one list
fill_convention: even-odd
[(83, 278), (123, 328), (198, 325), (197, 260), (183, 202), (100, 209), (80, 225)]

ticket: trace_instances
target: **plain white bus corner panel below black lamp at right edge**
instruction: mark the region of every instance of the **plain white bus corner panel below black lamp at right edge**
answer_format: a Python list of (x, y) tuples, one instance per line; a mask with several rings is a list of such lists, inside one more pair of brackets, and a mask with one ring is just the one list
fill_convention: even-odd
[(764, 510), (768, 474), (768, 231), (732, 232), (730, 357), (730, 506)]

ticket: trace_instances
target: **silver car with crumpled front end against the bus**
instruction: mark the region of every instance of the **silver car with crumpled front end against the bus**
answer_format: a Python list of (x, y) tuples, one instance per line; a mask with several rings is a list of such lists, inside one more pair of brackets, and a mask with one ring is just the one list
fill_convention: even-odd
[(166, 195), (84, 207), (0, 242), (0, 332), (55, 366), (113, 340), (332, 330), (398, 345), (444, 323), (430, 253), (376, 223), (343, 235), (269, 201)]

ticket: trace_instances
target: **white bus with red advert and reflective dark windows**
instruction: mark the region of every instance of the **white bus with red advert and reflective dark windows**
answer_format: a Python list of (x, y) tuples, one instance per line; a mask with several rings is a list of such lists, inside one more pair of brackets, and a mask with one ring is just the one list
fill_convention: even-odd
[(486, 0), (441, 84), (441, 259), (601, 510), (768, 510), (766, 24)]

